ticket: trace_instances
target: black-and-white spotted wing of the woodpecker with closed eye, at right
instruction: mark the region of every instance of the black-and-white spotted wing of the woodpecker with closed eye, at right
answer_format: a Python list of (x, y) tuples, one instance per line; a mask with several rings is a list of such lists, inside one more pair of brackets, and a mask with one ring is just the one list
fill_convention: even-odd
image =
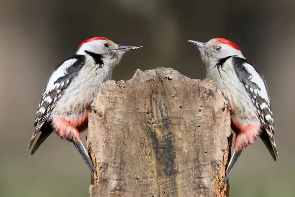
[(264, 76), (254, 64), (244, 58), (233, 57), (233, 66), (238, 79), (244, 84), (246, 91), (252, 97), (252, 102), (264, 127), (260, 137), (276, 161), (278, 151), (273, 136), (274, 122)]

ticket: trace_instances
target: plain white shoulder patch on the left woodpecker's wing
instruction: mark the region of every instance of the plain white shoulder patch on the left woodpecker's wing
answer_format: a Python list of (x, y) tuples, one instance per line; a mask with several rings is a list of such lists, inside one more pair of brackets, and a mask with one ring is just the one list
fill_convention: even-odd
[(65, 70), (67, 68), (71, 67), (73, 64), (75, 64), (75, 62), (77, 62), (77, 59), (67, 60), (62, 65), (60, 65), (59, 68), (54, 73), (52, 73), (52, 75), (50, 76), (50, 79), (47, 83), (44, 95), (47, 94), (48, 92), (52, 91), (53, 89), (55, 89), (56, 86), (60, 85), (59, 83), (54, 84), (54, 82), (56, 82), (60, 77), (65, 76)]

